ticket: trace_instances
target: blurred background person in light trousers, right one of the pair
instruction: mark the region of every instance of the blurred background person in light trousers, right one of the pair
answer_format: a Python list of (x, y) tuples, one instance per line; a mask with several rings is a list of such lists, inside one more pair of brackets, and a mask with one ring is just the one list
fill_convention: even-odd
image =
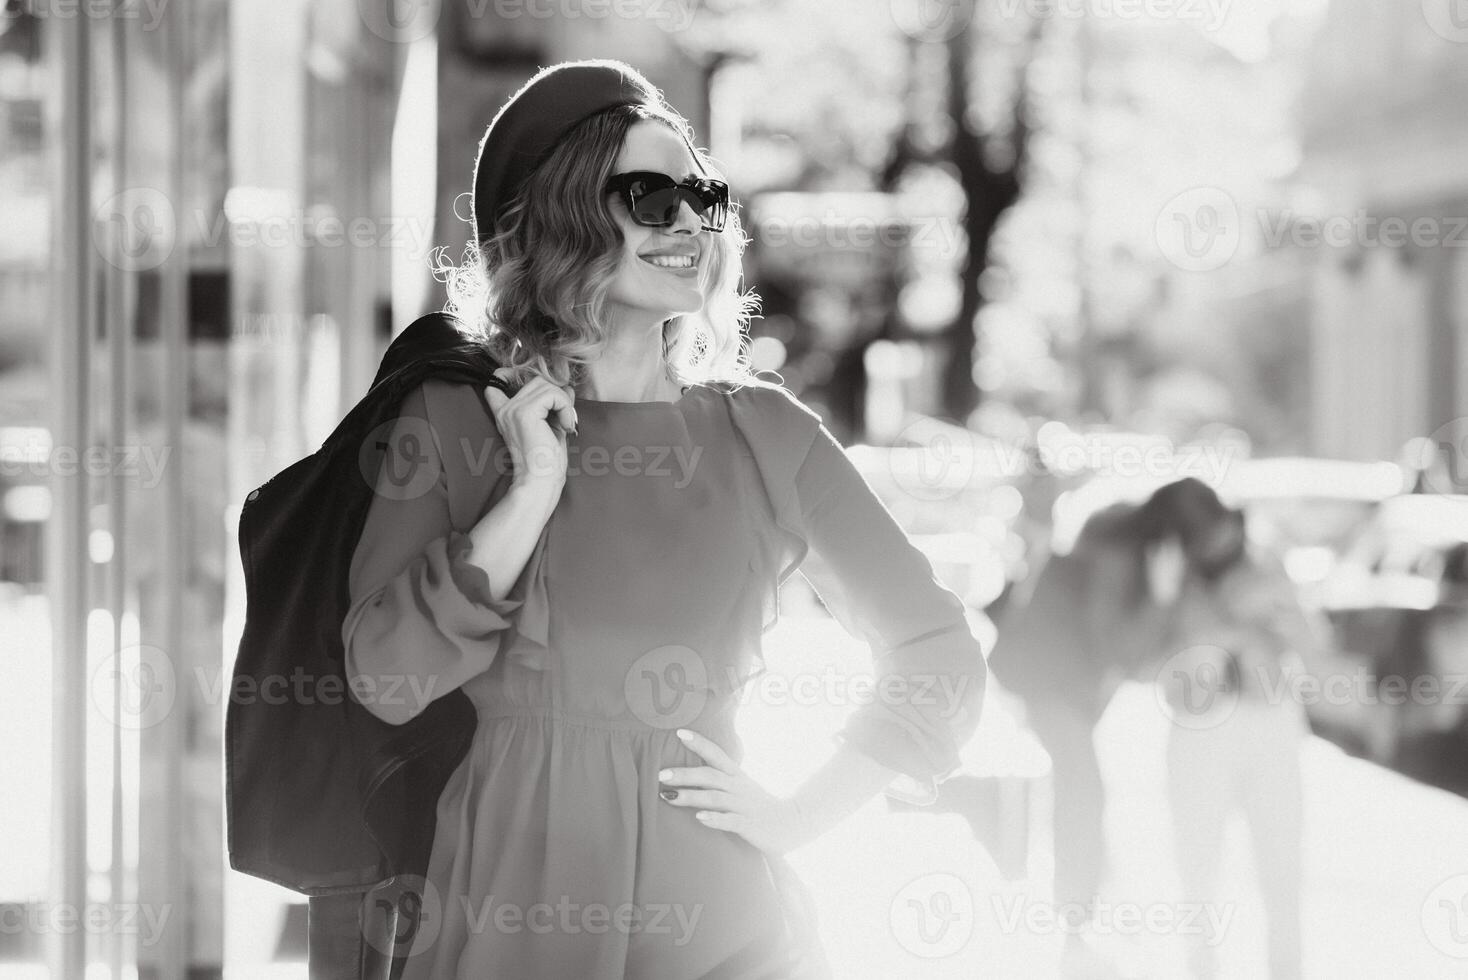
[[(1270, 977), (1302, 976), (1301, 747), (1309, 726), (1289, 682), (1321, 643), (1284, 569), (1246, 547), (1243, 513), (1202, 487), (1179, 486), (1180, 562), (1158, 672), (1171, 710), (1167, 794), (1188, 907), (1220, 904), (1224, 830), (1242, 814), (1264, 895)], [(1208, 915), (1199, 923), (1214, 921)], [(1226, 935), (1186, 930), (1198, 980), (1218, 976)]]

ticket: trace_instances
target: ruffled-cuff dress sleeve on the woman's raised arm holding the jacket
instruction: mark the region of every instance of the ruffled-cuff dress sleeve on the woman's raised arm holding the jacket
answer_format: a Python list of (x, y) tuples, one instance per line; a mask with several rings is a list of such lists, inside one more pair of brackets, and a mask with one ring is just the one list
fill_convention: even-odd
[(373, 502), (352, 553), (342, 622), (352, 697), (390, 725), (486, 670), (523, 599), (495, 599), (451, 521), (439, 433), (423, 387), (380, 443)]

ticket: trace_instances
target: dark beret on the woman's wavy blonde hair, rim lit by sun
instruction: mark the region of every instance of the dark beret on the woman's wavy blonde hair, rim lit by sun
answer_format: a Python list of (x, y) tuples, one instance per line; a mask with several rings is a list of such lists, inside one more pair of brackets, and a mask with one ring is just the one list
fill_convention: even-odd
[(474, 163), (474, 233), (493, 238), (515, 192), (587, 116), (612, 106), (662, 106), (658, 89), (622, 62), (564, 62), (540, 69), (495, 113)]

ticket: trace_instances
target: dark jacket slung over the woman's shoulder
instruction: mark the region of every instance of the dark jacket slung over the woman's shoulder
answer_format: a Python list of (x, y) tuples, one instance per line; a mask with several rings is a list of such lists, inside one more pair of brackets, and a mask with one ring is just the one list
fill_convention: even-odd
[(476, 712), (454, 691), (395, 726), (351, 697), (346, 579), (382, 459), (373, 436), (424, 380), (483, 386), (496, 367), (457, 321), (421, 317), (321, 447), (245, 499), (245, 628), (225, 720), (235, 870), (313, 896), (426, 873), (437, 798), (468, 751)]

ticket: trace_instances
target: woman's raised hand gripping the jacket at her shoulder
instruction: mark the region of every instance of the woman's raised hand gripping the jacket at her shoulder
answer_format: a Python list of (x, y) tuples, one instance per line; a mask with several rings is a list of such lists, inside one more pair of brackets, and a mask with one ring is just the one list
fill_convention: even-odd
[[(509, 368), (495, 371), (495, 377), (506, 374)], [(568, 464), (567, 431), (574, 431), (578, 421), (574, 390), (537, 374), (514, 396), (487, 384), (484, 398), (495, 415), (495, 427), (509, 449), (514, 483), (559, 499)]]

